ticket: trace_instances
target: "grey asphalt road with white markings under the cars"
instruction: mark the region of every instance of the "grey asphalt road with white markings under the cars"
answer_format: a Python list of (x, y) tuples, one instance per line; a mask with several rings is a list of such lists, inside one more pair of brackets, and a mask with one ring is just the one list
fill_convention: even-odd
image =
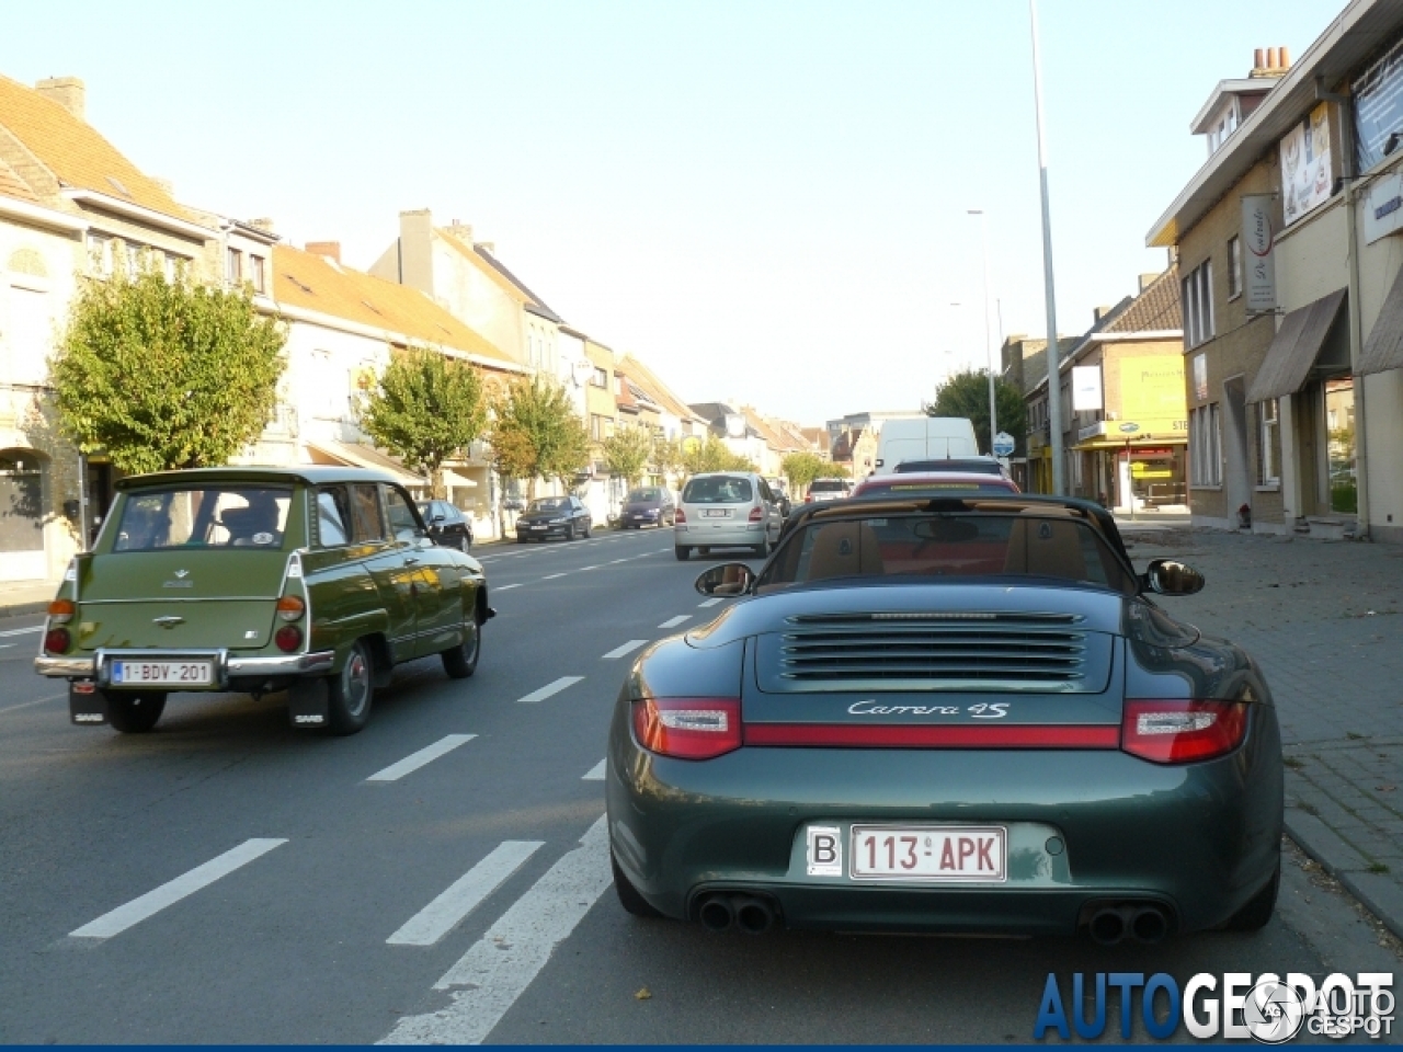
[(0, 621), (0, 1042), (1027, 1042), (1049, 972), (1399, 971), (1295, 857), (1267, 930), (1157, 947), (630, 917), (609, 711), (630, 647), (716, 613), (716, 558), (665, 530), (481, 557), (477, 675), (400, 668), (352, 738), (290, 729), (281, 696), (72, 727), (38, 619)]

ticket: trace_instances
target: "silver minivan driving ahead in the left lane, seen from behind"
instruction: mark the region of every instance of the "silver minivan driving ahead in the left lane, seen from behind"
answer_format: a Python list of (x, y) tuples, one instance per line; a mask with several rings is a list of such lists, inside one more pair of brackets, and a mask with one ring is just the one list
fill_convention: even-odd
[(779, 543), (783, 523), (779, 499), (758, 474), (710, 471), (693, 476), (682, 490), (673, 544), (679, 560), (690, 558), (693, 548), (706, 555), (734, 547), (763, 557)]

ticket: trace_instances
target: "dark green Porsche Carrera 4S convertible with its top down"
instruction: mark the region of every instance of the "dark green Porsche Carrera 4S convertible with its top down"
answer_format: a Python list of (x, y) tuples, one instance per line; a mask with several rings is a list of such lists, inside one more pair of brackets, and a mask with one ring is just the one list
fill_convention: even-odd
[(1271, 917), (1282, 764), (1261, 670), (1149, 593), (1097, 505), (811, 505), (741, 599), (634, 663), (610, 729), (615, 885), (762, 931), (1157, 941)]

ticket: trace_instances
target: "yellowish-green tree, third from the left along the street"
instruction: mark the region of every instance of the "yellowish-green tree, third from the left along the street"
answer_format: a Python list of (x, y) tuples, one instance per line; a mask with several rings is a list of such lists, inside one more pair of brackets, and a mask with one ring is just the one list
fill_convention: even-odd
[(563, 387), (532, 376), (508, 387), (491, 426), (492, 459), (504, 478), (558, 478), (564, 485), (589, 463), (589, 433)]

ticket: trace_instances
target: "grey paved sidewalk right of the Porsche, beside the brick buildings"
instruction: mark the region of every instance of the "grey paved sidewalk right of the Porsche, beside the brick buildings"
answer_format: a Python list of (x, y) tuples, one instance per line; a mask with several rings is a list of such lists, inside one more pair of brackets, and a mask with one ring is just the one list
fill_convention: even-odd
[(1403, 937), (1403, 547), (1124, 529), (1135, 565), (1179, 557), (1160, 605), (1244, 647), (1281, 715), (1291, 839)]

